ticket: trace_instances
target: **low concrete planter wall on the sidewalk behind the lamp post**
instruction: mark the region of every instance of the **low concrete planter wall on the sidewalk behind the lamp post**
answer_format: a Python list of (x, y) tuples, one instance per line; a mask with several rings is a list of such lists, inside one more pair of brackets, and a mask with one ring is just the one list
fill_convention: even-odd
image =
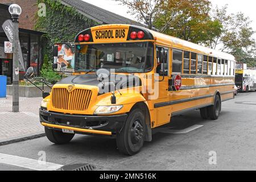
[[(43, 88), (43, 86), (39, 86)], [(44, 92), (51, 92), (48, 86), (44, 86)], [(42, 97), (42, 91), (36, 86), (19, 86), (19, 97)], [(7, 95), (13, 95), (13, 85), (7, 85)]]

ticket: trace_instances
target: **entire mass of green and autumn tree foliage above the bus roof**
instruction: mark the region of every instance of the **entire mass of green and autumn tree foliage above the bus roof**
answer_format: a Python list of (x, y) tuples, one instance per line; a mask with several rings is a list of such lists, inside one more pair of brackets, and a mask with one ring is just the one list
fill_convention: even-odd
[(228, 5), (212, 7), (209, 0), (115, 0), (129, 7), (138, 21), (164, 34), (231, 53), (255, 66), (255, 31), (243, 13), (228, 14)]

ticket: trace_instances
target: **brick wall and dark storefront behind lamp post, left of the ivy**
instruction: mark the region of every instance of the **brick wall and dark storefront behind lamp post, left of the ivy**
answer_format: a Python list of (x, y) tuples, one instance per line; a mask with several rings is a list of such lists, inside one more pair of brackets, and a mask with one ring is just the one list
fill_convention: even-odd
[[(42, 53), (40, 52), (42, 49), (42, 45), (40, 45), (40, 39), (43, 35), (43, 32), (33, 30), (35, 26), (34, 15), (37, 11), (35, 6), (36, 0), (0, 0), (0, 75), (7, 76), (7, 84), (11, 84), (13, 80), (13, 55), (11, 53), (4, 52), (4, 42), (9, 40), (3, 31), (2, 24), (7, 19), (11, 19), (9, 13), (9, 5), (12, 3), (18, 3), (22, 7), (23, 11), (19, 19), (19, 42), (22, 48), (25, 69), (28, 67), (34, 67), (35, 73), (38, 74), (43, 63)], [(20, 80), (23, 80), (26, 70), (24, 70), (21, 65), (19, 69)]]

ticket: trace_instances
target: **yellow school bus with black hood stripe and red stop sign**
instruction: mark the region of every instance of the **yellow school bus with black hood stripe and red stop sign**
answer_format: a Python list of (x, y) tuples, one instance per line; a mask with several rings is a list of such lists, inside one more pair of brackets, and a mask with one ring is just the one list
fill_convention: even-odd
[(40, 108), (47, 138), (56, 144), (75, 134), (100, 135), (134, 155), (174, 115), (200, 109), (204, 119), (218, 119), (221, 103), (234, 98), (234, 56), (147, 28), (88, 28), (73, 49), (75, 71)]

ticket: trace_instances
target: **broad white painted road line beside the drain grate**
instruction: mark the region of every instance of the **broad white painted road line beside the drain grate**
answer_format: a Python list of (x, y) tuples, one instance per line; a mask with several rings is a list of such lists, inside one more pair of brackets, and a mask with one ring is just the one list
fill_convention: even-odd
[(60, 164), (54, 164), (46, 162), (45, 164), (39, 164), (38, 160), (22, 158), (20, 156), (1, 154), (0, 153), (0, 164), (9, 164), (11, 166), (18, 166), (36, 171), (55, 171), (63, 167)]

